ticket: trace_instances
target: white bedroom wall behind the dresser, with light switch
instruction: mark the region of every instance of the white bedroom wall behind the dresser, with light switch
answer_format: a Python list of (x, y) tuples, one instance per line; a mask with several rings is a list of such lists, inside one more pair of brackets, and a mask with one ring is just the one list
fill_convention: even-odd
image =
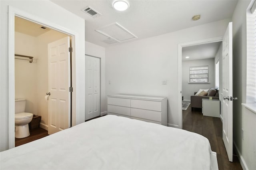
[(107, 47), (106, 94), (168, 97), (168, 125), (178, 127), (178, 44), (223, 36), (229, 21)]

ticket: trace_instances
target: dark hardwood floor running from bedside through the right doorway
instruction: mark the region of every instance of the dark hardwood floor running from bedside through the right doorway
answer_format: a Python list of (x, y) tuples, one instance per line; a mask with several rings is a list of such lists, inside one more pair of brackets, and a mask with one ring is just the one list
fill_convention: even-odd
[(228, 155), (222, 140), (222, 122), (220, 118), (202, 115), (202, 109), (182, 111), (183, 129), (201, 134), (208, 138), (212, 151), (217, 153), (219, 170), (242, 170), (237, 156), (233, 156), (233, 162), (228, 161)]

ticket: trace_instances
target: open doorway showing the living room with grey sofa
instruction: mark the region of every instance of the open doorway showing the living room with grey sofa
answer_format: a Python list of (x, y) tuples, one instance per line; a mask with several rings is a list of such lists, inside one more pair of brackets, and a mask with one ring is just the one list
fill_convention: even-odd
[[(220, 117), (222, 42), (204, 43), (182, 48), (182, 127), (191, 131), (194, 119), (203, 115), (202, 101), (211, 100), (216, 111), (208, 116)], [(220, 79), (220, 83), (219, 82)], [(205, 103), (206, 105), (207, 103)], [(218, 105), (218, 106), (217, 106)], [(206, 115), (206, 113), (204, 113)]]

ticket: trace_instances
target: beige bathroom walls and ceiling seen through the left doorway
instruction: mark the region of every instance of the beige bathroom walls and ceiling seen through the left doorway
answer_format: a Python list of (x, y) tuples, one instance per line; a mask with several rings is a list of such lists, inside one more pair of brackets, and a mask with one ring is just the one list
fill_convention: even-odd
[[(15, 17), (15, 99), (26, 99), (25, 112), (41, 116), (40, 128), (48, 130), (48, 43), (67, 34)], [(70, 37), (71, 38), (71, 37)]]

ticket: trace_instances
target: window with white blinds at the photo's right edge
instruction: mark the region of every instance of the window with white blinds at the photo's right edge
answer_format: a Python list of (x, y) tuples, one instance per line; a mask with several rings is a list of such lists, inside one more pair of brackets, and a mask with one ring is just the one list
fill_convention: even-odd
[(247, 13), (246, 103), (256, 102), (256, 1)]

